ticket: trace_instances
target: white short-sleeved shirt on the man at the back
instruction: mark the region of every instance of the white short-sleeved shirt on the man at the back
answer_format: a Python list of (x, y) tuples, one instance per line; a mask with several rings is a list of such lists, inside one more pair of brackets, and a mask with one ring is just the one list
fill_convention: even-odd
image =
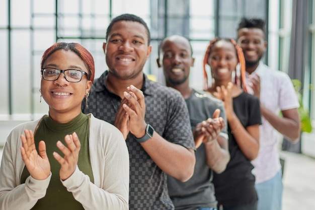
[[(295, 90), (287, 74), (270, 68), (262, 61), (251, 76), (255, 74), (259, 75), (261, 81), (262, 105), (277, 115), (281, 110), (299, 107)], [(252, 90), (249, 91), (251, 92)], [(279, 132), (262, 116), (260, 149), (258, 157), (252, 162), (255, 167), (253, 174), (256, 176), (256, 183), (270, 180), (281, 169), (277, 148), (279, 135)]]

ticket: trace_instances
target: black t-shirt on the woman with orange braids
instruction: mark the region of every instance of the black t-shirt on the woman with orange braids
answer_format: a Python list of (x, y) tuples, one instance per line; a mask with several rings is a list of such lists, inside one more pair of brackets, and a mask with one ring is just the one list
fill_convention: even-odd
[[(233, 98), (233, 109), (244, 127), (261, 124), (257, 97), (243, 92)], [(257, 201), (254, 166), (242, 153), (228, 125), (230, 161), (221, 174), (213, 173), (213, 184), (218, 205), (237, 206)]]

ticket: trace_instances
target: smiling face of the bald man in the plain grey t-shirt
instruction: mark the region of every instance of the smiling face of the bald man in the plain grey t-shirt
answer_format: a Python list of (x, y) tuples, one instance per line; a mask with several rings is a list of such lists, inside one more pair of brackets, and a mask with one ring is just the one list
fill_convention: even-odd
[[(163, 71), (166, 82), (171, 85), (183, 84), (189, 78), (190, 67), (194, 64), (189, 41), (181, 36), (171, 36), (161, 45)], [(160, 60), (157, 60), (160, 66)]]

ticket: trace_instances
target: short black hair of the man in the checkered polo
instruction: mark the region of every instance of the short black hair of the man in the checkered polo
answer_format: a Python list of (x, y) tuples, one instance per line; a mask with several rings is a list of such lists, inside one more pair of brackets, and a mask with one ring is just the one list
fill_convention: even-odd
[(108, 35), (109, 33), (111, 32), (112, 28), (113, 28), (113, 25), (116, 23), (116, 22), (119, 22), (119, 21), (133, 21), (133, 22), (138, 22), (140, 24), (142, 24), (144, 26), (144, 28), (146, 29), (146, 35), (147, 35), (147, 44), (150, 45), (150, 41), (151, 41), (151, 38), (150, 38), (150, 30), (149, 28), (147, 27), (146, 23), (144, 22), (144, 20), (136, 15), (133, 15), (133, 14), (122, 14), (120, 16), (117, 16), (116, 18), (112, 19), (112, 21), (110, 22), (109, 26), (107, 27), (107, 31), (106, 31), (106, 41), (107, 41), (107, 38), (108, 38)]

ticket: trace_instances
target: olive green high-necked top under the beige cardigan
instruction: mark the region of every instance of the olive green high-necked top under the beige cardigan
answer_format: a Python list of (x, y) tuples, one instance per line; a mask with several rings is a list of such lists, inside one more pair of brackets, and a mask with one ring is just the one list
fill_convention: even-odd
[[(45, 116), (36, 130), (34, 138), (37, 152), (40, 141), (43, 140), (46, 144), (52, 176), (45, 197), (39, 199), (32, 209), (84, 209), (82, 204), (74, 199), (72, 193), (68, 192), (66, 187), (62, 185), (59, 176), (60, 164), (52, 155), (53, 152), (57, 152), (61, 157), (64, 157), (57, 148), (56, 143), (61, 141), (66, 146), (64, 136), (73, 132), (76, 132), (81, 143), (77, 166), (84, 174), (90, 177), (91, 182), (94, 182), (89, 153), (90, 117), (81, 113), (70, 122), (57, 123), (49, 116)], [(21, 183), (25, 183), (26, 178), (29, 176), (30, 173), (24, 167)]]

